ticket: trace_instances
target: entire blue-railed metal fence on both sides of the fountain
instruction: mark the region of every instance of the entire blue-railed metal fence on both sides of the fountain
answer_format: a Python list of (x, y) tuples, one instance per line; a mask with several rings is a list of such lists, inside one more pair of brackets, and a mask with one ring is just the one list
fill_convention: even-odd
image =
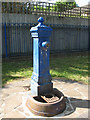
[[(3, 24), (3, 57), (30, 56), (33, 41), (30, 28), (34, 23)], [(47, 25), (47, 24), (46, 24)], [(54, 25), (50, 38), (50, 53), (88, 50), (88, 26)]]

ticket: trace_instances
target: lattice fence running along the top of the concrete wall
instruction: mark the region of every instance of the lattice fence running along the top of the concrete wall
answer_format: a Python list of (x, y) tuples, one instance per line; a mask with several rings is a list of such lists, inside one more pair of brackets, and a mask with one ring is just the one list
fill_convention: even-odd
[(68, 5), (47, 2), (3, 2), (2, 13), (90, 18), (90, 8), (76, 7), (72, 2)]

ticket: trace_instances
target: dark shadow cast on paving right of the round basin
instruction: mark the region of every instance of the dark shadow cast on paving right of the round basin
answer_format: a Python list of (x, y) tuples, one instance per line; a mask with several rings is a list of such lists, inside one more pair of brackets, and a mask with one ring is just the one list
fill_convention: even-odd
[[(90, 108), (90, 100), (83, 100), (83, 99), (77, 99), (77, 98), (68, 98), (65, 96), (65, 100), (66, 100), (66, 109), (65, 111), (62, 113), (62, 116), (68, 116), (70, 114), (74, 114), (74, 112), (76, 111), (77, 108)], [(83, 111), (84, 109), (82, 109)], [(79, 113), (80, 115), (82, 115), (83, 113)], [(87, 113), (85, 114), (85, 116), (87, 115)], [(59, 115), (57, 116), (59, 117)]]

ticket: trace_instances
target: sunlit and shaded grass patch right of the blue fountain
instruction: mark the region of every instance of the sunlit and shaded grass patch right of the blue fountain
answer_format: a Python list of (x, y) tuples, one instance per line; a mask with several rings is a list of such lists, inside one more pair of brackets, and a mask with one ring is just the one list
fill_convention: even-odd
[(52, 77), (88, 84), (88, 56), (58, 57), (50, 63)]

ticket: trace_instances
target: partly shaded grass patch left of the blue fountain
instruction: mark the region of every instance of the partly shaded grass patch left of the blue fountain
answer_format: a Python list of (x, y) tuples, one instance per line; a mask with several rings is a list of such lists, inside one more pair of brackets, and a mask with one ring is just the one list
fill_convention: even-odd
[(2, 63), (2, 83), (30, 77), (32, 74), (32, 60), (14, 60)]

